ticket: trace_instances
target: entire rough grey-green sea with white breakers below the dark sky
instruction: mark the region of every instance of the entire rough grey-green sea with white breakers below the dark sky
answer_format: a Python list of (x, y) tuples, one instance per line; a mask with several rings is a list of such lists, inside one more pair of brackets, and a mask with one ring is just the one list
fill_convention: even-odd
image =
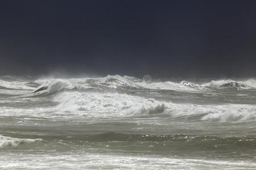
[(0, 78), (0, 168), (255, 169), (256, 79)]

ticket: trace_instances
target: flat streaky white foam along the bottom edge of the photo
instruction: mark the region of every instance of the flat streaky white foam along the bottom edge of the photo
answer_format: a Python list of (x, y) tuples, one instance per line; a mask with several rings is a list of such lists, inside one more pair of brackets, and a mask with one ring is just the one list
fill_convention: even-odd
[(150, 154), (97, 152), (90, 150), (51, 154), (4, 154), (5, 169), (255, 169), (253, 160), (179, 158)]

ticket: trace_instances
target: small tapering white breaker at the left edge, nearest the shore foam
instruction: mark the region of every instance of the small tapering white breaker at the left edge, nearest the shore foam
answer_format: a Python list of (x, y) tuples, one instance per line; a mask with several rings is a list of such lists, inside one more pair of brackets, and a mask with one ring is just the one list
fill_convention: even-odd
[(20, 144), (32, 143), (36, 141), (42, 141), (42, 139), (11, 138), (0, 135), (0, 148), (8, 146), (18, 146)]

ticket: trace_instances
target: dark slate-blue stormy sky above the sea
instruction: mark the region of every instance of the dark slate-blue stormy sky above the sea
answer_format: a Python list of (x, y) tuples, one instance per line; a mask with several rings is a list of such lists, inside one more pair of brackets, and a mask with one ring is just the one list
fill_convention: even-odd
[(0, 74), (256, 75), (256, 1), (1, 1)]

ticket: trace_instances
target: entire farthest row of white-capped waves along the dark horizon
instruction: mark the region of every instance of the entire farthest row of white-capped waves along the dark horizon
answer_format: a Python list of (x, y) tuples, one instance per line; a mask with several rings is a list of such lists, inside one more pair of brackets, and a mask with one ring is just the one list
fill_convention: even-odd
[[(210, 82), (188, 82), (188, 81), (152, 81), (144, 82), (142, 79), (132, 76), (108, 75), (100, 78), (70, 78), (70, 79), (54, 79), (44, 78), (32, 81), (15, 76), (6, 76), (0, 78), (0, 86), (2, 89), (14, 90), (33, 90), (37, 91), (42, 87), (47, 87), (45, 94), (52, 94), (61, 90), (123, 90), (131, 89), (147, 89), (147, 90), (172, 90), (180, 92), (200, 92), (210, 91), (212, 88), (237, 90), (251, 90), (256, 88), (256, 79), (248, 80), (212, 80)], [(46, 88), (45, 88), (46, 89)]]

